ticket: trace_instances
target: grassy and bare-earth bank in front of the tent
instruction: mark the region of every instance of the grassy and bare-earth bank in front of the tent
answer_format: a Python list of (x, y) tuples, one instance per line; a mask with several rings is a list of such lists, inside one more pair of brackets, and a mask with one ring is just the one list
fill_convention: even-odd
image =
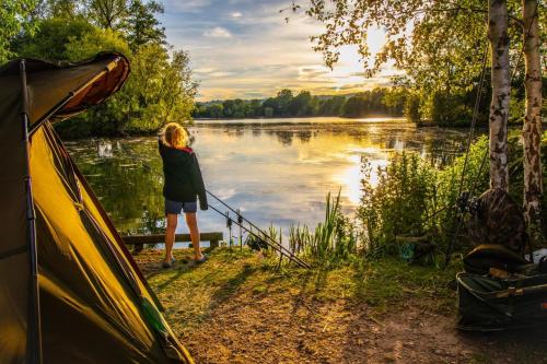
[(276, 270), (248, 249), (201, 266), (177, 249), (136, 256), (197, 363), (547, 363), (545, 334), (455, 329), (455, 272), (396, 259)]

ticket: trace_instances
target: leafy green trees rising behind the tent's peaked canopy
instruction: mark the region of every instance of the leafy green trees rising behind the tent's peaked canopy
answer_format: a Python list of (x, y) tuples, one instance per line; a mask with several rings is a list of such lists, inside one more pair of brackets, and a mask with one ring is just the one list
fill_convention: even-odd
[(197, 84), (188, 55), (165, 47), (158, 2), (8, 1), (0, 5), (0, 58), (80, 61), (114, 50), (131, 61), (125, 86), (107, 103), (56, 126), (65, 136), (153, 132), (165, 122), (190, 119)]

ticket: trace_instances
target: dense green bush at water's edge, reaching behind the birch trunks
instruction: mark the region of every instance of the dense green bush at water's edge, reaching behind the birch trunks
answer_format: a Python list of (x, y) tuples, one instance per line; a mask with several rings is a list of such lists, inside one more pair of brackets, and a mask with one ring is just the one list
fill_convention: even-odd
[[(543, 136), (543, 155), (547, 155), (547, 132)], [(510, 133), (508, 141), (510, 188), (517, 204), (523, 204), (524, 171), (523, 148), (519, 132)], [(465, 155), (444, 168), (434, 168), (417, 154), (403, 153), (385, 168), (377, 171), (377, 185), (373, 186), (371, 165), (363, 162), (363, 196), (357, 219), (363, 228), (362, 245), (366, 255), (394, 254), (396, 236), (423, 236), (445, 247), (451, 239), (457, 219), (455, 209), (459, 191), (478, 197), (489, 188), (488, 138), (482, 136), (470, 146), (466, 171), (462, 180)], [(543, 165), (544, 186), (547, 165)], [(459, 186), (462, 184), (462, 187)], [(545, 189), (545, 187), (544, 187)], [(547, 198), (544, 193), (544, 207)], [(547, 221), (543, 209), (544, 234)], [(465, 222), (464, 222), (465, 223)], [(465, 224), (464, 224), (465, 225)]]

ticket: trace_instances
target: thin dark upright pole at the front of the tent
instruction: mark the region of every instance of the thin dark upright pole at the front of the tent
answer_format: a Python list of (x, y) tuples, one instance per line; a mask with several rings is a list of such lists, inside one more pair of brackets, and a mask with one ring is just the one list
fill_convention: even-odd
[(42, 363), (42, 325), (39, 313), (39, 287), (38, 287), (38, 256), (36, 250), (36, 214), (31, 179), (31, 161), (28, 152), (28, 95), (26, 86), (25, 60), (20, 62), (21, 92), (23, 96), (23, 109), (21, 120), (23, 129), (23, 142), (25, 153), (25, 195), (26, 195), (26, 239), (28, 244), (28, 314), (26, 326), (26, 359), (28, 363)]

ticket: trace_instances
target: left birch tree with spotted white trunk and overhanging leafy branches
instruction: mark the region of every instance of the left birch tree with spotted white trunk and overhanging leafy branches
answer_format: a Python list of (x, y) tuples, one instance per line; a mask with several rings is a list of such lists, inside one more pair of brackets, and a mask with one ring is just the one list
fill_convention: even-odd
[[(479, 1), (311, 1), (307, 14), (326, 24), (325, 32), (313, 39), (327, 66), (338, 60), (342, 45), (357, 45), (369, 74), (387, 60), (406, 70), (411, 81), (427, 90), (451, 94), (454, 84), (468, 86), (480, 67), (477, 47), (484, 39), (484, 14), (492, 48), (492, 86), (490, 108), (492, 187), (507, 189), (507, 120), (509, 114), (509, 37), (505, 1), (491, 0), (487, 10)], [(333, 4), (333, 7), (330, 7)], [(494, 22), (496, 25), (492, 25)], [(368, 30), (386, 31), (386, 45), (370, 63)], [(426, 64), (426, 66), (423, 66)], [(428, 70), (422, 72), (421, 70)], [(418, 71), (416, 71), (418, 70)], [(457, 81), (457, 82), (455, 82)]]

